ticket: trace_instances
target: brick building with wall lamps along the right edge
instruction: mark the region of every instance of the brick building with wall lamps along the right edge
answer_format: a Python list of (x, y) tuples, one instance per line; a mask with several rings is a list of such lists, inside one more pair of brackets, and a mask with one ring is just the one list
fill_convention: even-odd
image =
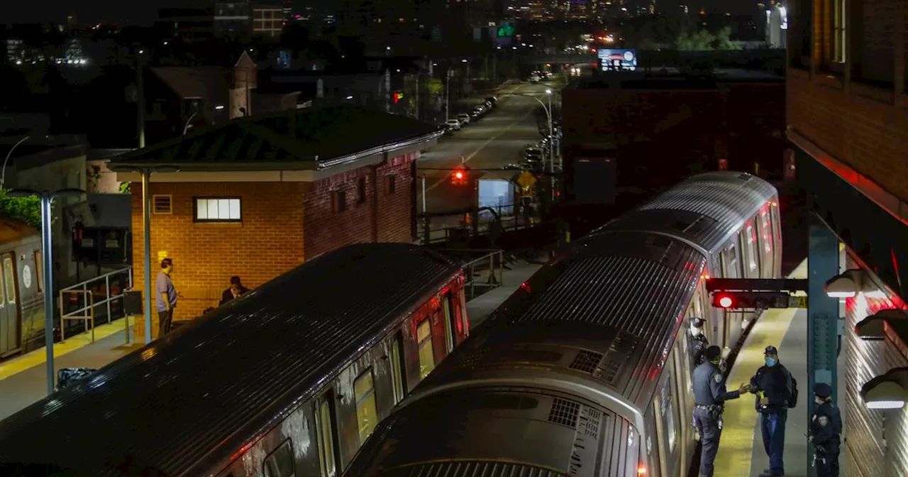
[[(895, 0), (786, 6), (787, 136), (797, 182), (846, 245), (840, 268), (864, 277), (838, 315), (844, 393), (835, 404), (847, 436), (844, 475), (903, 475), (908, 406), (873, 407), (867, 390), (883, 380), (908, 397), (908, 381), (888, 381), (908, 375), (908, 333), (882, 318), (908, 317), (908, 9)], [(881, 335), (867, 339), (861, 330), (874, 321)], [(898, 393), (889, 395), (898, 401)]]

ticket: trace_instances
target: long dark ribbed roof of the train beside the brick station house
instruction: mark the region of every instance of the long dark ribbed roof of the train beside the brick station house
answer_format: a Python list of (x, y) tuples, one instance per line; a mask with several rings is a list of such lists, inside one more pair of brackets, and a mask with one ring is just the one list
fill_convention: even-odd
[(321, 255), (0, 422), (0, 462), (201, 475), (459, 273), (404, 243)]

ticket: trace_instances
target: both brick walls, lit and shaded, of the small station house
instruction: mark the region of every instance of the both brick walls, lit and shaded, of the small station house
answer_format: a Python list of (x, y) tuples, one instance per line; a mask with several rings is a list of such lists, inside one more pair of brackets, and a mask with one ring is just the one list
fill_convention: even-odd
[[(172, 214), (152, 214), (152, 277), (158, 253), (173, 259), (173, 284), (183, 297), (174, 321), (217, 306), (232, 275), (254, 288), (304, 260), (350, 243), (410, 243), (412, 174), (418, 154), (360, 167), (312, 183), (152, 183), (153, 195), (171, 195)], [(388, 176), (395, 176), (394, 192)], [(364, 200), (359, 200), (360, 179)], [(346, 193), (346, 210), (335, 194)], [(241, 198), (242, 224), (196, 223), (193, 197)], [(377, 200), (376, 200), (377, 199)], [(142, 188), (133, 187), (133, 263), (136, 290), (144, 290)], [(143, 339), (137, 320), (137, 339)], [(157, 335), (157, 315), (152, 317)]]

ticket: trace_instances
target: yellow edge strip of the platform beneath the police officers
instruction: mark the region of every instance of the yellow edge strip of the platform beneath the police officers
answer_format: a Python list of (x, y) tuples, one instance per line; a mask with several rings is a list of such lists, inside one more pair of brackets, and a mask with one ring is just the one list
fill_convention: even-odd
[[(807, 261), (798, 264), (788, 278), (807, 278)], [(766, 310), (754, 323), (745, 343), (728, 373), (728, 389), (737, 389), (741, 383), (750, 383), (756, 370), (763, 366), (766, 346), (779, 346), (797, 309)], [(757, 415), (754, 395), (747, 393), (740, 399), (725, 404), (722, 438), (716, 455), (715, 477), (742, 477), (751, 474)]]

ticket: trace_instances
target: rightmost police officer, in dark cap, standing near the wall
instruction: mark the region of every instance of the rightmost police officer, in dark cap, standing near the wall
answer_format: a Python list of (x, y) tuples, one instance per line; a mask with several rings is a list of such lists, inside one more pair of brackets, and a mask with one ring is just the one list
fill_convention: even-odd
[(814, 442), (816, 477), (838, 477), (839, 436), (842, 434), (842, 413), (833, 405), (833, 388), (826, 383), (814, 385), (817, 407), (810, 418), (810, 442)]

